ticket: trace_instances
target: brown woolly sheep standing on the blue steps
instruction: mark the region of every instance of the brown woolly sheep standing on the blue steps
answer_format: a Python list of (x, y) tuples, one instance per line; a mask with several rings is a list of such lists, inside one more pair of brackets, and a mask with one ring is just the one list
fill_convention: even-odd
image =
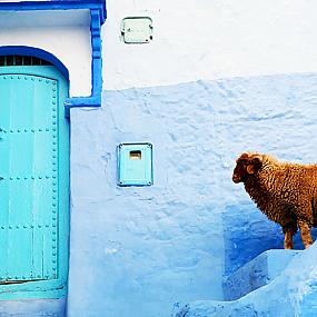
[(308, 248), (310, 229), (317, 226), (317, 165), (280, 162), (256, 152), (242, 153), (236, 162), (232, 181), (244, 182), (261, 212), (283, 227), (284, 248), (293, 249), (298, 227)]

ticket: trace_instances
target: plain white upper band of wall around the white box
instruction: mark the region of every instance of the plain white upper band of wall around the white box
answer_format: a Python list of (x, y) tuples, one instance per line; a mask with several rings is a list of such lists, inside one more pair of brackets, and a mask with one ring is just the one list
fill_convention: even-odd
[[(109, 0), (106, 89), (317, 70), (314, 0)], [(127, 46), (120, 21), (153, 19), (153, 41)]]

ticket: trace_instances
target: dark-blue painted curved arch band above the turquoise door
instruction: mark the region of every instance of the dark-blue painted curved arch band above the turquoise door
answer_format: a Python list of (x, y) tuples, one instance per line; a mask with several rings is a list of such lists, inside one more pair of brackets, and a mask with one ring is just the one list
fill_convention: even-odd
[(30, 56), (37, 57), (40, 59), (44, 59), (51, 62), (66, 78), (69, 82), (69, 72), (67, 67), (52, 53), (47, 52), (42, 49), (33, 48), (33, 47), (24, 47), (24, 46), (3, 46), (0, 47), (0, 56), (8, 56), (8, 55), (20, 55), (20, 56)]

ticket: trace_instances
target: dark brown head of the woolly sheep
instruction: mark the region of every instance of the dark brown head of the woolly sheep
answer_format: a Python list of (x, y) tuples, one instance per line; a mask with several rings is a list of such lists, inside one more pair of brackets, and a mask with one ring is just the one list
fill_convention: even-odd
[(242, 153), (236, 160), (232, 181), (245, 182), (250, 176), (255, 175), (262, 165), (262, 156), (259, 153)]

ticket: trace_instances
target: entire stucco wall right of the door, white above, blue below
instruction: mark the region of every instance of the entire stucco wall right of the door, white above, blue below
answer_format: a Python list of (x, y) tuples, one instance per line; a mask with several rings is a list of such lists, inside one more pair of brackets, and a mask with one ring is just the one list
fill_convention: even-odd
[[(69, 316), (162, 317), (222, 299), (280, 229), (231, 182), (244, 150), (316, 161), (314, 1), (108, 1), (101, 109), (71, 110)], [(150, 16), (127, 46), (121, 19)], [(116, 147), (153, 143), (155, 186), (116, 185)], [(296, 242), (300, 247), (300, 242)]]

